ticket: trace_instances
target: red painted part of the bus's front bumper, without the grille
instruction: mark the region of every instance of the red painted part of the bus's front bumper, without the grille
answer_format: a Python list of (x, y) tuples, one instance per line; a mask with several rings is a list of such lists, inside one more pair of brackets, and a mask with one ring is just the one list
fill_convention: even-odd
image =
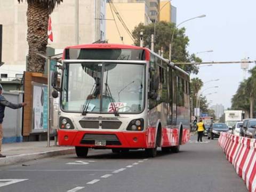
[[(111, 134), (116, 135), (121, 145), (95, 146), (94, 143), (81, 143), (85, 134)], [(84, 146), (91, 148), (150, 148), (146, 132), (97, 132), (97, 131), (71, 131), (58, 130), (58, 141), (60, 146)]]

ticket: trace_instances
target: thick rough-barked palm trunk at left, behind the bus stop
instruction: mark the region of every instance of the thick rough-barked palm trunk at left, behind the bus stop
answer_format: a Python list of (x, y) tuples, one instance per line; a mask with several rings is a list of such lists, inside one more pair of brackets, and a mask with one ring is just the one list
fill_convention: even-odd
[[(49, 14), (63, 0), (26, 0), (27, 9), (27, 41), (28, 41), (28, 71), (44, 73), (45, 59), (35, 52), (46, 54), (47, 27)], [(18, 0), (23, 2), (23, 0)]]

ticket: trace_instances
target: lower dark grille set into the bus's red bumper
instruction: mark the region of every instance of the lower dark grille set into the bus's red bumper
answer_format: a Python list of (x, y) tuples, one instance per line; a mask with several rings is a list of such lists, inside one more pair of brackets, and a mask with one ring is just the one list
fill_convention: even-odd
[(95, 144), (95, 140), (105, 140), (106, 145), (121, 145), (115, 134), (84, 134), (82, 144)]

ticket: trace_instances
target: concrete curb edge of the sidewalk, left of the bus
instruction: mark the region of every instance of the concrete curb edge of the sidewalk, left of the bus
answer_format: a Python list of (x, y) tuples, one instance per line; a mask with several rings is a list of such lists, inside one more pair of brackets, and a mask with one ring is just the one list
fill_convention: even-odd
[(53, 156), (59, 156), (59, 155), (68, 155), (68, 154), (74, 154), (74, 153), (75, 153), (74, 148), (71, 148), (71, 149), (65, 148), (65, 149), (44, 151), (41, 153), (7, 156), (5, 158), (0, 158), (0, 166), (12, 165), (12, 164), (23, 163), (23, 162), (27, 162), (35, 159), (41, 159), (41, 158), (53, 157)]

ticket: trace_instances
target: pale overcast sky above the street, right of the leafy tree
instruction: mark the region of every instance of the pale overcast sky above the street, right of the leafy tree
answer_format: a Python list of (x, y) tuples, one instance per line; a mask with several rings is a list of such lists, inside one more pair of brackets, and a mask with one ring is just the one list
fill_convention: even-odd
[[(190, 42), (190, 54), (213, 50), (213, 52), (198, 53), (203, 61), (240, 61), (244, 58), (256, 60), (256, 14), (255, 0), (172, 0), (177, 7), (177, 25), (187, 19), (205, 14), (204, 18), (197, 18), (183, 23)], [(255, 63), (250, 63), (250, 67)], [(207, 89), (203, 95), (212, 102), (210, 106), (222, 104), (225, 109), (231, 106), (231, 98), (236, 93), (239, 82), (243, 81), (241, 64), (221, 64), (204, 66), (197, 75), (207, 89), (212, 86), (218, 88)], [(247, 73), (246, 77), (249, 77)]]

